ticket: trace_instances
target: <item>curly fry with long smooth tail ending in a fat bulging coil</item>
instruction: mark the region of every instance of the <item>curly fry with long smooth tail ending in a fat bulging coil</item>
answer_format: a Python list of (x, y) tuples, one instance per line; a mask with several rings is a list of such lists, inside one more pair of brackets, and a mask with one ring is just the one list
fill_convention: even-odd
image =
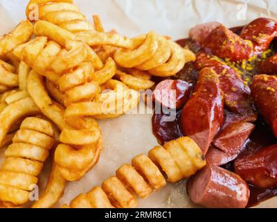
[[(69, 181), (80, 179), (84, 173), (96, 164), (102, 149), (102, 139), (98, 124), (93, 119), (85, 118), (73, 119), (72, 121), (67, 119), (67, 121), (64, 121), (64, 109), (51, 101), (44, 88), (42, 76), (36, 74), (35, 71), (30, 71), (27, 88), (42, 113), (62, 130), (60, 141), (64, 142), (64, 144), (57, 146), (55, 151), (55, 163), (62, 177)], [(80, 139), (78, 144), (75, 144), (75, 141), (72, 141), (71, 137), (68, 136), (73, 131), (77, 132), (80, 137), (78, 138)], [(97, 133), (87, 134), (92, 131)], [(86, 141), (87, 138), (92, 144), (82, 144), (82, 141)], [(65, 156), (66, 158), (64, 158)], [(76, 168), (80, 166), (78, 163), (82, 163), (82, 167)]]

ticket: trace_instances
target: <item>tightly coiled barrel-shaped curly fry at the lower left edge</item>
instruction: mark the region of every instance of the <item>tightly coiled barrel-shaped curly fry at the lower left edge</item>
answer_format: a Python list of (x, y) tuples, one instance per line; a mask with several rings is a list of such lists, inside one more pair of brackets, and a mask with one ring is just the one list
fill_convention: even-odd
[[(0, 200), (21, 205), (28, 201), (28, 192), (37, 184), (43, 162), (54, 145), (51, 123), (29, 117), (21, 123), (12, 144), (8, 146), (6, 159), (0, 169)], [(13, 195), (8, 194), (9, 191)]]

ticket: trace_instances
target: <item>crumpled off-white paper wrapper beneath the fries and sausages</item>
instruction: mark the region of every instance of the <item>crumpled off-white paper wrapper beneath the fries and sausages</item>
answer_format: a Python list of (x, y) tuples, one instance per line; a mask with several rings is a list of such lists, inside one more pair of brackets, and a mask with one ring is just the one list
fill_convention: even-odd
[[(0, 33), (10, 31), (25, 19), (27, 3), (27, 0), (0, 0)], [(98, 14), (106, 30), (115, 28), (128, 37), (154, 30), (177, 40), (187, 37), (190, 28), (204, 22), (222, 22), (232, 27), (247, 24), (257, 17), (277, 19), (275, 0), (76, 0), (75, 4), (80, 6), (87, 19), (91, 20), (91, 15)], [(56, 206), (69, 203), (78, 194), (101, 185), (122, 164), (129, 163), (135, 155), (148, 153), (157, 145), (151, 118), (152, 114), (126, 114), (118, 119), (99, 121), (104, 145), (98, 164), (80, 181), (69, 182)], [(3, 152), (2, 149), (0, 160), (3, 160)], [(45, 165), (45, 172), (40, 177), (41, 190), (49, 167), (49, 163)], [(149, 198), (139, 200), (139, 207), (197, 207), (188, 199), (185, 187), (185, 182), (168, 184)], [(277, 198), (271, 198), (258, 207), (277, 207)]]

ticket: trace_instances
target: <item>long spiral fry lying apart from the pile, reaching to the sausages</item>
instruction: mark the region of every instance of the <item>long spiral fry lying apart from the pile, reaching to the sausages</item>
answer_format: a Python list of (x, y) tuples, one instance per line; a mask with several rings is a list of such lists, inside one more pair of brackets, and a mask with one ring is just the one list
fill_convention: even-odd
[[(178, 155), (178, 154), (181, 155)], [(184, 162), (182, 162), (184, 158)], [(168, 182), (177, 182), (192, 176), (206, 165), (204, 155), (197, 144), (189, 137), (181, 137), (156, 146), (148, 155), (137, 155), (132, 166), (124, 164), (116, 171), (116, 177), (102, 182), (87, 194), (80, 194), (70, 205), (62, 207), (136, 207), (135, 194), (141, 198), (149, 196), (152, 189), (161, 189)], [(189, 168), (186, 170), (186, 166)], [(190, 173), (188, 173), (190, 171)], [(166, 174), (164, 178), (163, 173)]]

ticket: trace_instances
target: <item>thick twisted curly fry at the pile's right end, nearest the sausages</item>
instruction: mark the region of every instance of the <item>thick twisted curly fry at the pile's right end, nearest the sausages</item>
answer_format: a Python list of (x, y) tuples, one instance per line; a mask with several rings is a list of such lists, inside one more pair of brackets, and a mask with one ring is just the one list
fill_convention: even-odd
[(195, 55), (177, 43), (154, 33), (133, 39), (133, 49), (118, 49), (114, 60), (120, 67), (149, 71), (153, 76), (174, 76), (186, 62), (195, 60)]

